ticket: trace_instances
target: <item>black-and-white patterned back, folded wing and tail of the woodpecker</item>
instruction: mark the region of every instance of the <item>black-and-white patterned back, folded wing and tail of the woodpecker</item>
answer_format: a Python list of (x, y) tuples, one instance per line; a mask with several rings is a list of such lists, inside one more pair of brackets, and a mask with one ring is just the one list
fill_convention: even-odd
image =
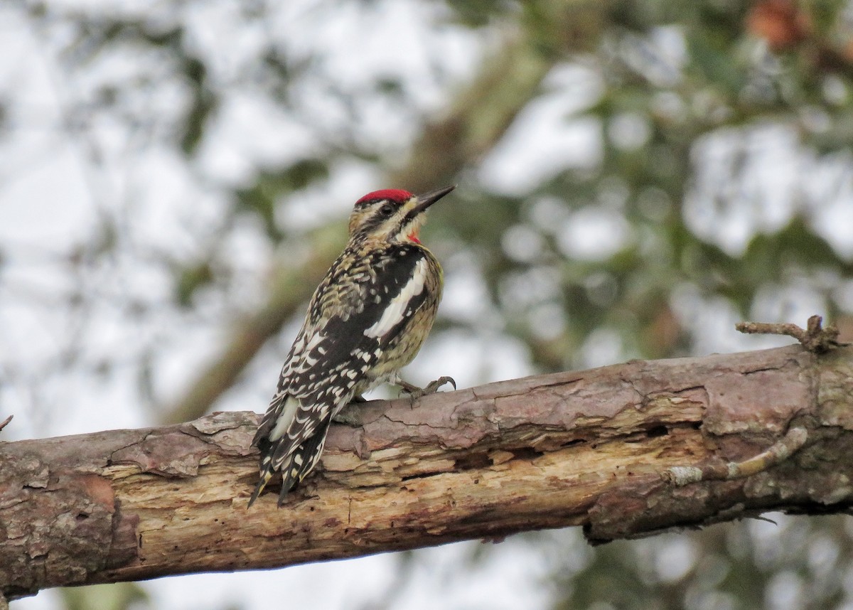
[[(305, 325), (281, 369), (278, 391), (255, 435), (254, 444), (264, 456), (262, 482), (264, 471), (269, 479), (282, 467), (288, 468), (282, 473), (286, 481), (293, 473), (298, 482), (316, 464), (322, 439), (316, 455), (296, 456), (297, 450), (317, 433), (325, 437), (328, 422), (368, 383), (383, 348), (423, 305), (430, 256), (421, 247), (399, 245), (371, 253), (355, 268), (335, 261), (311, 300)], [(356, 276), (357, 282), (344, 297), (330, 299), (329, 287), (339, 287), (336, 276), (343, 273)]]

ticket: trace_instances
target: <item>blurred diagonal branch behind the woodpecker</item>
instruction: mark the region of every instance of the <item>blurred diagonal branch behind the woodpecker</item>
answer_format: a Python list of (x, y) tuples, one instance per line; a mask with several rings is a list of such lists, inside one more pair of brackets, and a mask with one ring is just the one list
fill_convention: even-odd
[[(486, 59), (479, 76), (456, 96), (444, 117), (425, 125), (412, 145), (409, 160), (390, 171), (387, 184), (422, 192), (454, 182), (495, 147), (515, 116), (537, 96), (543, 78), (566, 53), (588, 49), (601, 35), (601, 7), (572, 2), (550, 9), (548, 29), (529, 27), (508, 36), (496, 55)], [(319, 235), (307, 262), (281, 270), (271, 282), (266, 304), (240, 322), (213, 362), (202, 369), (183, 396), (165, 409), (165, 423), (189, 421), (204, 415), (237, 377), (266, 340), (281, 330), (310, 298), (328, 264), (345, 243), (342, 227), (334, 235)]]

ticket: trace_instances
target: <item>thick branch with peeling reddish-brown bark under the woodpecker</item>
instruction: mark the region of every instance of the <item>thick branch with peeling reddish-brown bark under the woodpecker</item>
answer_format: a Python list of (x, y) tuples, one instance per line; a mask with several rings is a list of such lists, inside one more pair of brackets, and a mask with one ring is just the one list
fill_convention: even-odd
[[(254, 413), (0, 443), (0, 593), (548, 527), (583, 526), (601, 543), (767, 510), (853, 506), (849, 347), (636, 361), (351, 414), (361, 425), (333, 427), (320, 473), (281, 509), (276, 490), (246, 508)], [(749, 477), (676, 486), (664, 476), (744, 462), (794, 426), (807, 432), (804, 447)]]

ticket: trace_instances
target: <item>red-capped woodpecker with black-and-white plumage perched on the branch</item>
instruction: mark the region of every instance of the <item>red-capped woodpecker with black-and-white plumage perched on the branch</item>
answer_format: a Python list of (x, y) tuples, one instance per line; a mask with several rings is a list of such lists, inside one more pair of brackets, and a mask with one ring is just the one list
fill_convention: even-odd
[(444, 283), (418, 234), (427, 208), (455, 188), (424, 195), (384, 189), (356, 201), (349, 241), (311, 297), (252, 440), (260, 479), (249, 506), (281, 473), (281, 507), (319, 461), (334, 416), (364, 392), (385, 382), (415, 397), (445, 383), (456, 387), (450, 377), (420, 388), (399, 375), (432, 328)]

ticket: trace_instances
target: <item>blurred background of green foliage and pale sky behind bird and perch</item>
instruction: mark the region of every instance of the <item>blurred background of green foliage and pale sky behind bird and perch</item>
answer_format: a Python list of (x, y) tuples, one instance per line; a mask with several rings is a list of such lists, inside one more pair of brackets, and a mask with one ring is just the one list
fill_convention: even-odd
[[(778, 345), (744, 319), (853, 337), (853, 3), (6, 0), (0, 49), (4, 439), (263, 411), (384, 187), (459, 183), (415, 381)], [(204, 582), (245, 610), (380, 568), (339, 607), (853, 608), (850, 521), (772, 518)], [(192, 578), (13, 607), (204, 606)]]

